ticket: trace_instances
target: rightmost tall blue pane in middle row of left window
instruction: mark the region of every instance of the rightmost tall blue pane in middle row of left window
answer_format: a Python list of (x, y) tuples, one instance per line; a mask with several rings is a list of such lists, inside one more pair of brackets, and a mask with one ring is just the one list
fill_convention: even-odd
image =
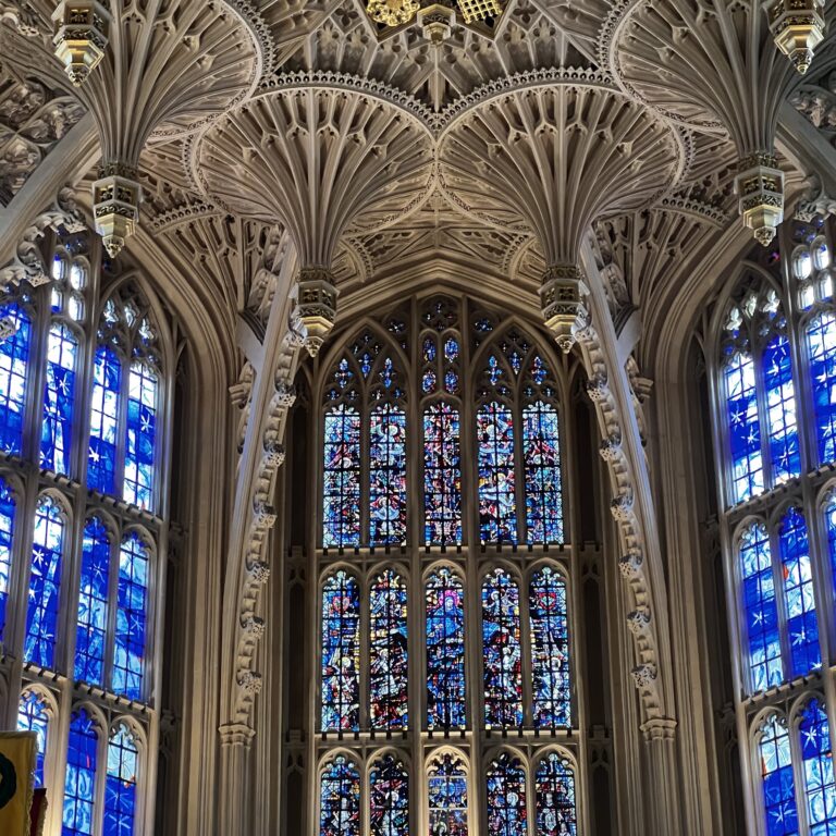
[(148, 545), (136, 531), (119, 549), (116, 630), (113, 637), (113, 691), (143, 698), (148, 620)]

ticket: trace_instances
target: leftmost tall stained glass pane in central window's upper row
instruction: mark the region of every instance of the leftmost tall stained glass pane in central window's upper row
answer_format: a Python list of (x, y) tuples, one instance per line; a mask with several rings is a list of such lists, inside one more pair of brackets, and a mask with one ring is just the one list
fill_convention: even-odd
[(322, 545), (360, 544), (360, 415), (339, 405), (325, 413)]

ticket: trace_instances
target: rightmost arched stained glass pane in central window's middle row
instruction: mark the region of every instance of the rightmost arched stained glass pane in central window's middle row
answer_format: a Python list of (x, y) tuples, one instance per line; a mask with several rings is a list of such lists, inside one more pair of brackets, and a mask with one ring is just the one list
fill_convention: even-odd
[(531, 625), (531, 696), (538, 728), (571, 725), (571, 676), (566, 585), (544, 566), (528, 591)]

